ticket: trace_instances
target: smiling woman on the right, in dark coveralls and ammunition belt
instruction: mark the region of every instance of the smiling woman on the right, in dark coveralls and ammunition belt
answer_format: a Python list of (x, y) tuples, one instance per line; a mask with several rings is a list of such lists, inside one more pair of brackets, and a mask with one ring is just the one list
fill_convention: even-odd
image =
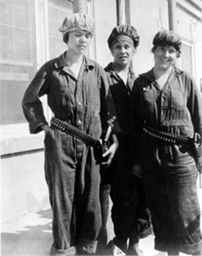
[(134, 168), (141, 166), (159, 255), (201, 255), (202, 247), (201, 95), (193, 77), (174, 66), (181, 46), (172, 31), (157, 33), (154, 68), (133, 87)]

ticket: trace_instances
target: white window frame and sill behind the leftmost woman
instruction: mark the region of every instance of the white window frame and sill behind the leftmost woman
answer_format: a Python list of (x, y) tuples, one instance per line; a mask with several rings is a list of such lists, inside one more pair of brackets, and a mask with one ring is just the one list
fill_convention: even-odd
[[(48, 60), (48, 1), (33, 0), (32, 4), (34, 12), (35, 59), (38, 70)], [(43, 21), (43, 24), (41, 24), (41, 21)], [(3, 59), (0, 61), (3, 61)], [(10, 61), (5, 62), (11, 63)], [(17, 62), (12, 61), (12, 64), (17, 64)], [(20, 62), (20, 64), (22, 63)], [(50, 110), (48, 109), (45, 97), (42, 97), (41, 101), (43, 103), (44, 114), (47, 120), (50, 120)], [(30, 135), (27, 121), (19, 124), (1, 125), (0, 129), (1, 156), (43, 148), (43, 132), (40, 132), (38, 135)]]

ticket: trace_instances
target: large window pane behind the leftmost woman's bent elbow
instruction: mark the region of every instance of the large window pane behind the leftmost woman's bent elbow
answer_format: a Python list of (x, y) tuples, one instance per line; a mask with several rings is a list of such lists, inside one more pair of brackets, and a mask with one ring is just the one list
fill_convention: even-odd
[(22, 95), (36, 71), (32, 0), (0, 1), (0, 124), (25, 122)]

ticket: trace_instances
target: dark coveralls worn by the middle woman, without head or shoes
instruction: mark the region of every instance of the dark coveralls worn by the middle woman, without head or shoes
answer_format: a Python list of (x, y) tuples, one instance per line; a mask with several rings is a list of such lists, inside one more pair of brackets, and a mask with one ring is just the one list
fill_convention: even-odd
[(107, 80), (113, 95), (121, 132), (117, 134), (119, 148), (110, 167), (102, 177), (103, 184), (110, 184), (110, 197), (113, 201), (112, 220), (114, 243), (126, 250), (128, 239), (139, 239), (151, 233), (149, 211), (141, 179), (133, 175), (131, 165), (131, 90), (136, 79), (129, 69), (127, 87), (112, 64), (105, 68)]

